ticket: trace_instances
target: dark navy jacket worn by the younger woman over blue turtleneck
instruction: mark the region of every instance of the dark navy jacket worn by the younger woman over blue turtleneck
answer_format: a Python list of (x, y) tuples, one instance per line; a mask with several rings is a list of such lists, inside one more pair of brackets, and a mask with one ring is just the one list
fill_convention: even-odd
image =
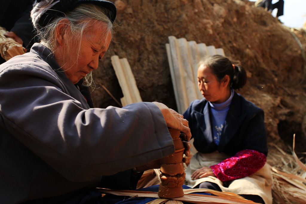
[(267, 156), (267, 136), (264, 112), (243, 96), (234, 92), (230, 109), (226, 115), (219, 145), (213, 140), (211, 107), (207, 100), (194, 100), (185, 111), (193, 145), (198, 152), (211, 153), (216, 150), (233, 156), (244, 149), (253, 149)]

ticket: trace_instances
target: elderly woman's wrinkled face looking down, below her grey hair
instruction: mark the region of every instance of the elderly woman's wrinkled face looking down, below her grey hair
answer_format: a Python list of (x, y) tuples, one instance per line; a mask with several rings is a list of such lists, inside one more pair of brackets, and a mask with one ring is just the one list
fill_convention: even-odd
[(60, 60), (62, 63), (59, 64), (73, 84), (98, 68), (99, 60), (105, 55), (110, 40), (111, 33), (106, 32), (106, 25), (101, 23), (91, 26), (84, 32), (79, 53), (78, 43), (70, 39), (73, 45), (71, 47), (75, 48), (70, 49), (68, 56), (65, 54)]

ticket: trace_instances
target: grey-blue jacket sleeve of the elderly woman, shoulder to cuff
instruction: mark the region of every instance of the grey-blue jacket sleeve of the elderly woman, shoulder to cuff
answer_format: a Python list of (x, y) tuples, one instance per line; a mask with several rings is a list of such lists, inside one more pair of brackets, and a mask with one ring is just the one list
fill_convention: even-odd
[(0, 70), (7, 130), (66, 179), (113, 175), (174, 153), (155, 104), (86, 110), (63, 90), (56, 75), (39, 67)]

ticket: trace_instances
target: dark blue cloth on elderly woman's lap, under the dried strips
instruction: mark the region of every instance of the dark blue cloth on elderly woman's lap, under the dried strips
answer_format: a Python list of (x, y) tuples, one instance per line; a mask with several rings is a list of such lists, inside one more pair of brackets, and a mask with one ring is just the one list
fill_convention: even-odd
[[(190, 187), (183, 185), (183, 189), (189, 189)], [(152, 191), (158, 192), (159, 185), (150, 186), (147, 188), (137, 189), (135, 191)], [(211, 195), (198, 193), (202, 195)], [(101, 204), (143, 204), (147, 202), (151, 202), (157, 198), (145, 198), (145, 197), (126, 197), (126, 196), (118, 196), (118, 195), (106, 195), (103, 197), (103, 202)], [(190, 202), (183, 202), (184, 204), (191, 204)]]

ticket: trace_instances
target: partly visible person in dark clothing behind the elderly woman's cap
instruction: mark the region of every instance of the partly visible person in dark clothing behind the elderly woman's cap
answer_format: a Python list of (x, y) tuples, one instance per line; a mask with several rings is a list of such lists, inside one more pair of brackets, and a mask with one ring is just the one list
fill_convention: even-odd
[[(13, 38), (17, 43), (23, 45), (27, 51), (35, 42), (36, 31), (32, 25), (30, 12), (33, 8), (33, 0), (6, 0), (0, 2), (0, 26), (9, 32), (6, 37)], [(0, 58), (0, 64), (5, 59)]]

